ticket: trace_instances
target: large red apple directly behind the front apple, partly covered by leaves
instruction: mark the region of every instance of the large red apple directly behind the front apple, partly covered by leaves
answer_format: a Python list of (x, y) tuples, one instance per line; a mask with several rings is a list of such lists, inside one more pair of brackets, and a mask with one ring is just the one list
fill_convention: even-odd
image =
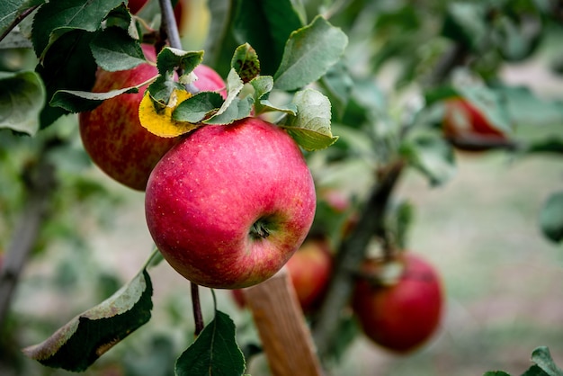
[[(153, 46), (142, 45), (148, 61), (156, 61)], [(210, 67), (194, 69), (200, 91), (224, 90), (222, 78)], [(143, 63), (130, 70), (96, 73), (94, 92), (107, 92), (139, 85), (157, 75), (154, 65)], [(139, 122), (139, 103), (144, 90), (137, 94), (121, 94), (104, 101), (91, 112), (79, 115), (80, 136), (94, 163), (113, 179), (132, 189), (144, 191), (148, 175), (178, 139), (158, 137)], [(224, 95), (224, 93), (222, 93)]]

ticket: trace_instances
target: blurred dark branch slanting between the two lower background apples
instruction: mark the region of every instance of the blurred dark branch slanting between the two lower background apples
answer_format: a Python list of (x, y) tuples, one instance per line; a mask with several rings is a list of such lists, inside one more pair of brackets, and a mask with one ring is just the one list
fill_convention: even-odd
[(317, 320), (313, 323), (313, 337), (321, 359), (326, 358), (332, 344), (337, 340), (335, 335), (343, 316), (341, 313), (353, 292), (354, 273), (362, 264), (368, 243), (372, 237), (381, 236), (384, 232), (383, 221), (389, 197), (404, 166), (403, 161), (398, 161), (380, 172), (380, 181), (374, 186), (360, 219), (338, 249), (335, 271), (326, 298)]

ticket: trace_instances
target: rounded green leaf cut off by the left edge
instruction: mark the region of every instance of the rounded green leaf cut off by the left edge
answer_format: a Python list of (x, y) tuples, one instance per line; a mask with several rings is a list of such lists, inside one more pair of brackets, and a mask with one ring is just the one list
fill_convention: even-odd
[(45, 103), (45, 87), (35, 72), (0, 76), (0, 128), (33, 136), (39, 130), (39, 114)]

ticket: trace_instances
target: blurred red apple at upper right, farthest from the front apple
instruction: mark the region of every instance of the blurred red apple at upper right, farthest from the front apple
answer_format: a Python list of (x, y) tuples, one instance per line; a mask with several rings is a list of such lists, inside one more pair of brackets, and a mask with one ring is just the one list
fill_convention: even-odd
[(463, 98), (445, 102), (442, 130), (456, 148), (467, 151), (487, 150), (488, 143), (506, 140), (502, 130), (496, 129), (474, 104)]

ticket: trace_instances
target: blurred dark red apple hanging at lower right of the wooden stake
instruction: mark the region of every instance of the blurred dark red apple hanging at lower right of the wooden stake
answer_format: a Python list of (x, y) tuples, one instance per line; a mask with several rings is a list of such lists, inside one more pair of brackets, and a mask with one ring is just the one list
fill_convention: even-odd
[[(360, 279), (353, 292), (353, 311), (363, 332), (373, 342), (396, 353), (408, 353), (423, 345), (436, 331), (442, 317), (442, 283), (438, 273), (418, 255), (400, 255), (402, 273), (386, 286)], [(369, 260), (365, 275), (377, 275), (382, 264)]]

